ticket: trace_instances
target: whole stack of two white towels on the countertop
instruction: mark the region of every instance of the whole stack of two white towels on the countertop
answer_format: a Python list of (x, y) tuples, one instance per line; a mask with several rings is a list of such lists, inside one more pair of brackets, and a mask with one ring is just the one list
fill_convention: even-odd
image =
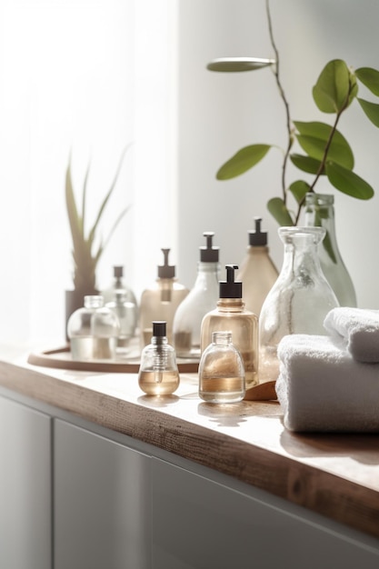
[(379, 311), (339, 307), (325, 335), (286, 335), (276, 394), (291, 431), (379, 433)]

